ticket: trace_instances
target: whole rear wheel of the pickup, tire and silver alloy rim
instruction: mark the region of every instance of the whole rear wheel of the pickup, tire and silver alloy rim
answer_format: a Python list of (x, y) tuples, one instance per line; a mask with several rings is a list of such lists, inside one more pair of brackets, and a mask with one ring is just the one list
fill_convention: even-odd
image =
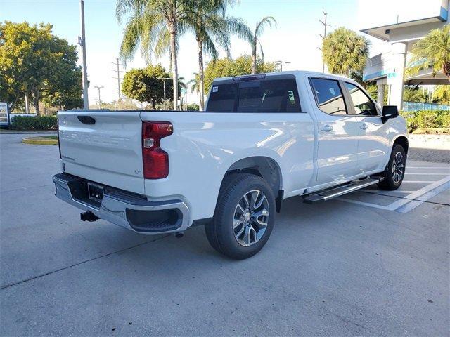
[(226, 176), (214, 219), (205, 226), (214, 249), (230, 258), (250, 258), (274, 227), (275, 198), (264, 179), (248, 173)]

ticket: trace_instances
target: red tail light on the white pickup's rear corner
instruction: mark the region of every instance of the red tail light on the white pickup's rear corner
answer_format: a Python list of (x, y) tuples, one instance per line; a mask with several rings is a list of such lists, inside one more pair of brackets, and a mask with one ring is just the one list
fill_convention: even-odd
[(143, 178), (161, 179), (169, 175), (169, 155), (161, 149), (160, 140), (173, 132), (168, 121), (142, 123)]

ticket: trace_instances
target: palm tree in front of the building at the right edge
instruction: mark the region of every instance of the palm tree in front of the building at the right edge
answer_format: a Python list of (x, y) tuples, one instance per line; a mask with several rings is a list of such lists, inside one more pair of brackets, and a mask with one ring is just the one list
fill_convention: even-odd
[(433, 29), (413, 45), (411, 53), (413, 58), (406, 70), (408, 74), (432, 67), (433, 76), (442, 70), (445, 76), (450, 78), (450, 25)]

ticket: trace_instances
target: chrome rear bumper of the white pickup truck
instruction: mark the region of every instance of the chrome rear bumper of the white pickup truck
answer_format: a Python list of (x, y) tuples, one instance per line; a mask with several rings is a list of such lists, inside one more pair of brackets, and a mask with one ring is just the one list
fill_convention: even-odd
[(181, 200), (149, 201), (138, 194), (108, 186), (103, 186), (101, 200), (90, 199), (87, 185), (91, 182), (67, 173), (53, 176), (53, 183), (59, 199), (134, 232), (182, 232), (189, 226), (189, 209)]

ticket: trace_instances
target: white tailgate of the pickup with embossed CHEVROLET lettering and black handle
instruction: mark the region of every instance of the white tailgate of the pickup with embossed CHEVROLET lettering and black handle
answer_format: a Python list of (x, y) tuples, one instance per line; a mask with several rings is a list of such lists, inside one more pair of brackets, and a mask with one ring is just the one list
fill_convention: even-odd
[(144, 194), (139, 111), (60, 112), (65, 173)]

